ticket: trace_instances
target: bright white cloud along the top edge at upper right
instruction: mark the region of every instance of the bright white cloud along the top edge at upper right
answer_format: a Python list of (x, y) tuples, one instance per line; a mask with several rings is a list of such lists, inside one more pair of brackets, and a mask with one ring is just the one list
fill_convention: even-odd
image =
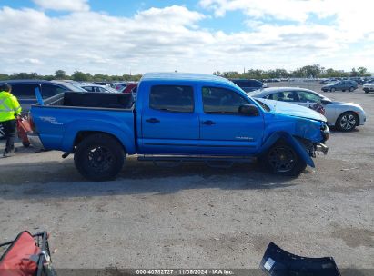
[[(349, 41), (362, 38), (373, 30), (372, 9), (367, 0), (341, 2), (340, 0), (200, 0), (199, 4), (213, 10), (216, 16), (227, 12), (242, 11), (248, 15), (249, 24), (253, 20), (288, 20), (295, 25), (308, 22), (311, 15), (319, 19), (334, 18), (334, 25), (344, 33)], [(277, 24), (275, 21), (274, 24)], [(313, 23), (308, 23), (313, 24)]]

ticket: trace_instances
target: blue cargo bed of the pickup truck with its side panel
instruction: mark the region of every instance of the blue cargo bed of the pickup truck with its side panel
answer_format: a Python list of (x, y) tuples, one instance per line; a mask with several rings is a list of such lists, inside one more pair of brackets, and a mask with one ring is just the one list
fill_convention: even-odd
[(131, 94), (66, 92), (31, 106), (36, 133), (45, 149), (72, 153), (82, 133), (109, 133), (135, 149), (135, 113)]

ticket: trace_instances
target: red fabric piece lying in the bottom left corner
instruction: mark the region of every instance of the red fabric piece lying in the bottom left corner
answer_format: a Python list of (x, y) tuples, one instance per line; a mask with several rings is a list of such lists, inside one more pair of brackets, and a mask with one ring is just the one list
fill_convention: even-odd
[(21, 232), (0, 259), (0, 276), (32, 276), (37, 263), (32, 255), (39, 255), (40, 249), (29, 232)]

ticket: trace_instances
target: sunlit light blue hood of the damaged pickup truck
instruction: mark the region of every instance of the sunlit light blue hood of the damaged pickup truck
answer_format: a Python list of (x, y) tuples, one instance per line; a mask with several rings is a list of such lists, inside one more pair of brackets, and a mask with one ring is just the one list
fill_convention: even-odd
[(321, 122), (327, 122), (326, 117), (321, 113), (315, 112), (308, 107), (304, 107), (298, 104), (288, 104), (280, 101), (257, 99), (264, 104), (267, 104), (271, 109), (272, 113), (307, 118)]

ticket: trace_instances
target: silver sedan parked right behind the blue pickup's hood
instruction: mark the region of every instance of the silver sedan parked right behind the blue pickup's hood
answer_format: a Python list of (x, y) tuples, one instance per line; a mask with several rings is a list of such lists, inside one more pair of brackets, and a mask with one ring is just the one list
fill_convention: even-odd
[(322, 94), (298, 87), (270, 87), (248, 93), (252, 97), (264, 98), (310, 107), (322, 104), (331, 126), (349, 132), (366, 122), (366, 114), (359, 104), (331, 101)]

